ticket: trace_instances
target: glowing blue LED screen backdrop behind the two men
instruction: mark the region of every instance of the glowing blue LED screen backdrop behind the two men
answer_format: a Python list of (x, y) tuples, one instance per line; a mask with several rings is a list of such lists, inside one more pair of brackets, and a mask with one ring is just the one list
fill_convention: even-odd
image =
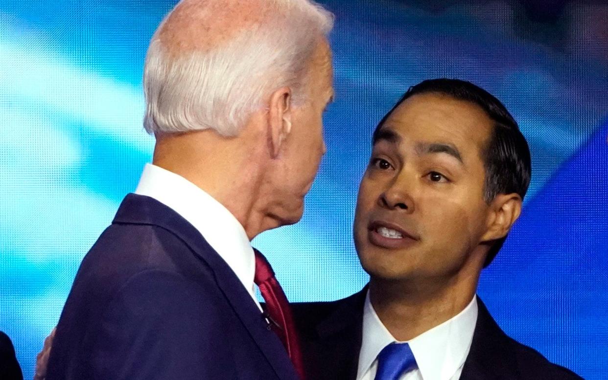
[[(373, 127), (406, 89), (471, 80), (520, 122), (533, 181), (480, 295), (503, 329), (586, 379), (608, 341), (608, 6), (323, 1), (336, 14), (328, 153), (299, 224), (254, 241), (289, 298), (367, 281), (352, 243)], [(81, 258), (134, 190), (148, 40), (168, 0), (0, 2), (0, 330), (26, 378)]]

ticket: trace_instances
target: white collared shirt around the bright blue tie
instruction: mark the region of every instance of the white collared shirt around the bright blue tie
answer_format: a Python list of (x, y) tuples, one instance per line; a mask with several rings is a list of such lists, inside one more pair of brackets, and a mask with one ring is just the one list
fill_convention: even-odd
[[(407, 342), (418, 368), (404, 373), (399, 380), (458, 380), (471, 349), (476, 323), (477, 296), (474, 296), (457, 316)], [(378, 370), (378, 354), (393, 342), (397, 340), (378, 318), (368, 292), (363, 311), (357, 380), (374, 380)]]

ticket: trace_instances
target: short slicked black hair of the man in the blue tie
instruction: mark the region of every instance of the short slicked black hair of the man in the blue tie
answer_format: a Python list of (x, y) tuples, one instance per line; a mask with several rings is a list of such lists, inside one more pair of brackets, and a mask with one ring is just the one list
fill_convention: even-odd
[[(373, 140), (376, 140), (381, 126), (401, 103), (413, 95), (428, 93), (449, 95), (458, 100), (474, 103), (488, 114), (489, 118), (494, 121), (494, 128), (488, 145), (482, 151), (482, 159), (486, 170), (485, 201), (489, 203), (499, 194), (510, 193), (517, 193), (523, 199), (528, 191), (532, 172), (528, 142), (519, 130), (517, 122), (500, 100), (471, 82), (440, 78), (425, 80), (410, 87), (406, 94), (399, 99), (399, 102), (378, 123)], [(506, 237), (492, 244), (484, 268), (494, 260), (505, 240)]]

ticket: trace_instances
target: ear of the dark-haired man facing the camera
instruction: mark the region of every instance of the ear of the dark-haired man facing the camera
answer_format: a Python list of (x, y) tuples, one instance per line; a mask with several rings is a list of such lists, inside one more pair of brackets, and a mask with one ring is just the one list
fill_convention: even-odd
[(522, 197), (516, 193), (499, 194), (490, 204), (490, 209), (482, 241), (497, 240), (509, 233), (522, 212)]

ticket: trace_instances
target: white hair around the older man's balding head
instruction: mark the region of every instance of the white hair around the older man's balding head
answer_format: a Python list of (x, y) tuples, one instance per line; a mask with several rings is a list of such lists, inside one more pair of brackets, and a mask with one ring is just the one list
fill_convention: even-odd
[(143, 74), (150, 134), (212, 128), (236, 136), (272, 91), (288, 86), (292, 105), (306, 100), (308, 64), (333, 27), (333, 15), (309, 0), (269, 0), (261, 24), (227, 43), (171, 57), (154, 34)]

